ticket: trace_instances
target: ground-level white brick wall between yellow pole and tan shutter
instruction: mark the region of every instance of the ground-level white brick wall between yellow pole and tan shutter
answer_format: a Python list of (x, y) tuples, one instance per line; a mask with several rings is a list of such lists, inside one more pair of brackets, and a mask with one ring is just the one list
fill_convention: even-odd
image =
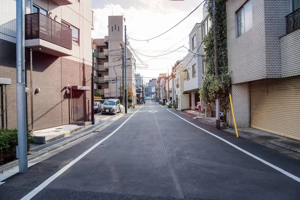
[[(250, 86), (249, 83), (238, 83), (231, 85), (232, 104), (234, 109), (236, 126), (249, 127), (250, 126)], [(233, 118), (231, 114), (229, 117), (229, 126), (234, 127)]]

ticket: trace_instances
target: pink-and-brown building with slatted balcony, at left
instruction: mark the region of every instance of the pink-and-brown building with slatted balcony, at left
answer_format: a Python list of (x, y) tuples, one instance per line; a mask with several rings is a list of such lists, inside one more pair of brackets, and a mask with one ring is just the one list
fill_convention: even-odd
[[(25, 0), (25, 84), (28, 129), (91, 119), (91, 0)], [(0, 1), (1, 126), (16, 127), (16, 2)], [(32, 71), (30, 72), (30, 48)], [(32, 79), (30, 78), (32, 76)], [(30, 84), (32, 83), (32, 87)], [(2, 86), (1, 91), (2, 91)], [(25, 92), (25, 91), (24, 91)], [(30, 100), (32, 94), (32, 106)], [(72, 106), (71, 106), (72, 105)], [(32, 108), (32, 112), (31, 112)], [(33, 120), (31, 120), (33, 115)]]

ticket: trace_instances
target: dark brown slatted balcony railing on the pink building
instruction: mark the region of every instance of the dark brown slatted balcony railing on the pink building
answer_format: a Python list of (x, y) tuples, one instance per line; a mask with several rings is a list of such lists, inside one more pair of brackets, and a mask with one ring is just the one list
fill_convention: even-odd
[(39, 12), (25, 14), (25, 39), (43, 39), (72, 49), (72, 30)]

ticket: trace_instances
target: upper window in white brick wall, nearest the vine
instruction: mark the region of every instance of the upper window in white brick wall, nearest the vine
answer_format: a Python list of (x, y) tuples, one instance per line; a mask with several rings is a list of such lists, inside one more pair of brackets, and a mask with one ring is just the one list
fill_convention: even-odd
[(252, 0), (248, 0), (236, 12), (236, 30), (237, 37), (252, 28)]

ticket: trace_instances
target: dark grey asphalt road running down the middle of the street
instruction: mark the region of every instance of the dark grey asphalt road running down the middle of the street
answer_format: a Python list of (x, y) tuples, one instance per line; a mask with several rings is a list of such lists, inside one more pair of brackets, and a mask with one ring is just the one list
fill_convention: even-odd
[(0, 199), (300, 199), (299, 177), (300, 160), (147, 101), (3, 180)]

